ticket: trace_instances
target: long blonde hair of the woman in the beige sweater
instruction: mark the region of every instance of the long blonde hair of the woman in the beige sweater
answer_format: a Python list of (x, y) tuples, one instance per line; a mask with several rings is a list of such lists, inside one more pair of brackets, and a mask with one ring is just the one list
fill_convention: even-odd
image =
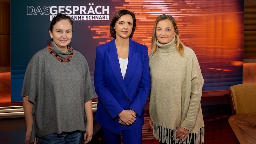
[(180, 41), (180, 37), (179, 37), (179, 29), (178, 29), (178, 26), (177, 26), (177, 23), (176, 23), (176, 20), (170, 16), (170, 15), (166, 15), (166, 14), (162, 14), (160, 16), (158, 16), (156, 18), (156, 21), (155, 21), (155, 24), (154, 24), (154, 28), (153, 28), (153, 35), (152, 35), (152, 40), (151, 40), (151, 51), (149, 53), (149, 57), (152, 57), (153, 54), (156, 52), (156, 50), (158, 49), (158, 46), (156, 45), (156, 41), (157, 41), (157, 38), (156, 38), (156, 26), (158, 24), (159, 21), (161, 20), (170, 20), (174, 26), (174, 29), (176, 30), (176, 39), (175, 39), (175, 44), (176, 44), (176, 47), (178, 48), (178, 52), (181, 56), (184, 56), (184, 45), (182, 44), (182, 42)]

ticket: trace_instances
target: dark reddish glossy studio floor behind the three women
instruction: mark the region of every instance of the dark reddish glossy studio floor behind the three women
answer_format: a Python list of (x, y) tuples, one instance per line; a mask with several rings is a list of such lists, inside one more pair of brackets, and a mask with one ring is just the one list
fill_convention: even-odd
[[(148, 110), (146, 107), (145, 124), (142, 128), (142, 143), (158, 144), (148, 125)], [(204, 144), (239, 144), (228, 123), (228, 118), (232, 115), (230, 104), (204, 105), (202, 111), (205, 124)], [(23, 144), (25, 132), (25, 118), (0, 119), (0, 144)], [(103, 143), (104, 138), (99, 129), (89, 144)]]

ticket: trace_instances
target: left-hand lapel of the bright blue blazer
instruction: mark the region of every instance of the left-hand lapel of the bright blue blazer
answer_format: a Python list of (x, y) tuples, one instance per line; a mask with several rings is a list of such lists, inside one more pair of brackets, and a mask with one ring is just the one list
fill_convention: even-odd
[[(121, 89), (123, 90), (125, 95), (128, 97), (128, 94), (127, 94), (127, 91), (126, 91), (126, 88), (124, 85), (124, 80), (123, 80), (123, 76), (121, 73), (120, 65), (119, 65), (115, 39), (113, 39), (111, 41), (111, 43), (109, 44), (108, 50), (109, 51), (107, 52), (107, 55), (108, 55), (108, 60), (110, 62), (110, 67), (113, 70), (114, 76), (115, 76), (119, 86), (121, 87)], [(130, 48), (129, 48), (129, 50), (130, 50)], [(129, 64), (129, 59), (128, 59), (128, 64)]]

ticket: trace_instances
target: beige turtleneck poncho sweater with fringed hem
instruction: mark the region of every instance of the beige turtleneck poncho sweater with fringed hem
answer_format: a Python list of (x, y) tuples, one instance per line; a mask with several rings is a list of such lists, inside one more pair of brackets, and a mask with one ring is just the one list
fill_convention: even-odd
[[(180, 56), (175, 37), (159, 47), (149, 59), (152, 89), (149, 113), (157, 140), (171, 143), (179, 125), (194, 133), (195, 143), (204, 141), (201, 96), (204, 79), (195, 52), (184, 47)], [(172, 134), (170, 133), (172, 131)], [(190, 137), (191, 140), (191, 137)], [(190, 143), (189, 137), (182, 143)], [(181, 140), (180, 140), (181, 143)]]

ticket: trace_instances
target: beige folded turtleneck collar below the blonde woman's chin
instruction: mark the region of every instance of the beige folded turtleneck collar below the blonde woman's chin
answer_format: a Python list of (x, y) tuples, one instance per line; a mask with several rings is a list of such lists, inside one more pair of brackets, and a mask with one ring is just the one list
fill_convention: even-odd
[(156, 45), (158, 46), (157, 50), (159, 52), (164, 52), (164, 53), (177, 50), (176, 44), (175, 44), (175, 39), (176, 39), (176, 37), (173, 37), (173, 39), (167, 44), (160, 44), (159, 41), (156, 41)]

